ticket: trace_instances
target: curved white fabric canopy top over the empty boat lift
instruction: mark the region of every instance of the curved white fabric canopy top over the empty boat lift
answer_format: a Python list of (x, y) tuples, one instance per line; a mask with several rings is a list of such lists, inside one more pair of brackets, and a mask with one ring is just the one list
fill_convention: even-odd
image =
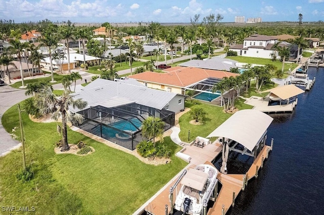
[(241, 110), (233, 114), (207, 137), (228, 138), (253, 151), (272, 120), (272, 117), (257, 110)]

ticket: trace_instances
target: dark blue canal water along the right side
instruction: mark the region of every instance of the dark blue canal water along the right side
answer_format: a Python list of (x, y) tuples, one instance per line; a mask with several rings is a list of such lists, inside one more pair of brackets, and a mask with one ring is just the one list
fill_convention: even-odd
[[(292, 114), (270, 115), (273, 150), (228, 214), (324, 213), (324, 68), (307, 73), (316, 76), (314, 86), (298, 96)], [(231, 168), (239, 171), (244, 159)]]

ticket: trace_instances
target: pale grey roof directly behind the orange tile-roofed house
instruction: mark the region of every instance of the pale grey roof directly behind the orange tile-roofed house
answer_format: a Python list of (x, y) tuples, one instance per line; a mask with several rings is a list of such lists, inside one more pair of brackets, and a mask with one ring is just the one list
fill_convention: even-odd
[(237, 68), (237, 61), (224, 58), (211, 58), (208, 60), (191, 60), (179, 64), (181, 67), (197, 67), (201, 69), (229, 71), (230, 68)]

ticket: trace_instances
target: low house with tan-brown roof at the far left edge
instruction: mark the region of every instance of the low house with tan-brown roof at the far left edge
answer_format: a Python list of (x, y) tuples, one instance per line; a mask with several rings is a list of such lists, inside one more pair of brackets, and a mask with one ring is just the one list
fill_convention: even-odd
[[(10, 65), (8, 66), (9, 72), (10, 72), (10, 78), (11, 79), (16, 79), (16, 78), (21, 78), (21, 74), (20, 74), (20, 63), (19, 61), (13, 61), (12, 63), (15, 64), (15, 66), (17, 68), (15, 68), (14, 66)], [(29, 73), (38, 73), (38, 67), (36, 67), (34, 65), (34, 68), (32, 69), (32, 64), (27, 64), (24, 62), (21, 62), (22, 65), (22, 72), (23, 72), (23, 76), (27, 77), (29, 76)], [(28, 72), (28, 67), (29, 67), (29, 72)], [(0, 65), (0, 74), (5, 74), (5, 76), (7, 75), (7, 67), (4, 67), (2, 65)], [(4, 77), (0, 77), (0, 78), (4, 78)]]

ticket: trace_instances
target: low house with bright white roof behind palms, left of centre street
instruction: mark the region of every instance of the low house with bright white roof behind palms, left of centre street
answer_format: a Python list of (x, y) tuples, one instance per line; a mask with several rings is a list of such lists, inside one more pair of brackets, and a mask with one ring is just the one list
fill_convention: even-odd
[[(66, 56), (66, 55), (65, 55)], [(86, 63), (88, 65), (90, 64), (100, 64), (100, 58), (96, 58), (93, 56), (89, 56), (86, 55)], [(78, 67), (79, 65), (84, 63), (84, 58), (83, 55), (80, 55), (78, 53), (70, 53), (70, 68), (71, 69), (75, 69), (75, 67)], [(53, 60), (52, 58), (52, 64), (53, 64), (53, 69), (57, 70), (59, 69), (59, 66), (57, 65), (57, 63), (55, 62), (55, 60)], [(45, 68), (47, 69), (51, 69), (51, 62), (50, 62), (50, 58), (45, 58), (44, 61), (41, 61), (41, 65), (43, 65)], [(63, 64), (62, 64), (62, 69), (63, 70), (68, 70), (68, 62), (67, 62), (67, 57), (64, 60)]]

